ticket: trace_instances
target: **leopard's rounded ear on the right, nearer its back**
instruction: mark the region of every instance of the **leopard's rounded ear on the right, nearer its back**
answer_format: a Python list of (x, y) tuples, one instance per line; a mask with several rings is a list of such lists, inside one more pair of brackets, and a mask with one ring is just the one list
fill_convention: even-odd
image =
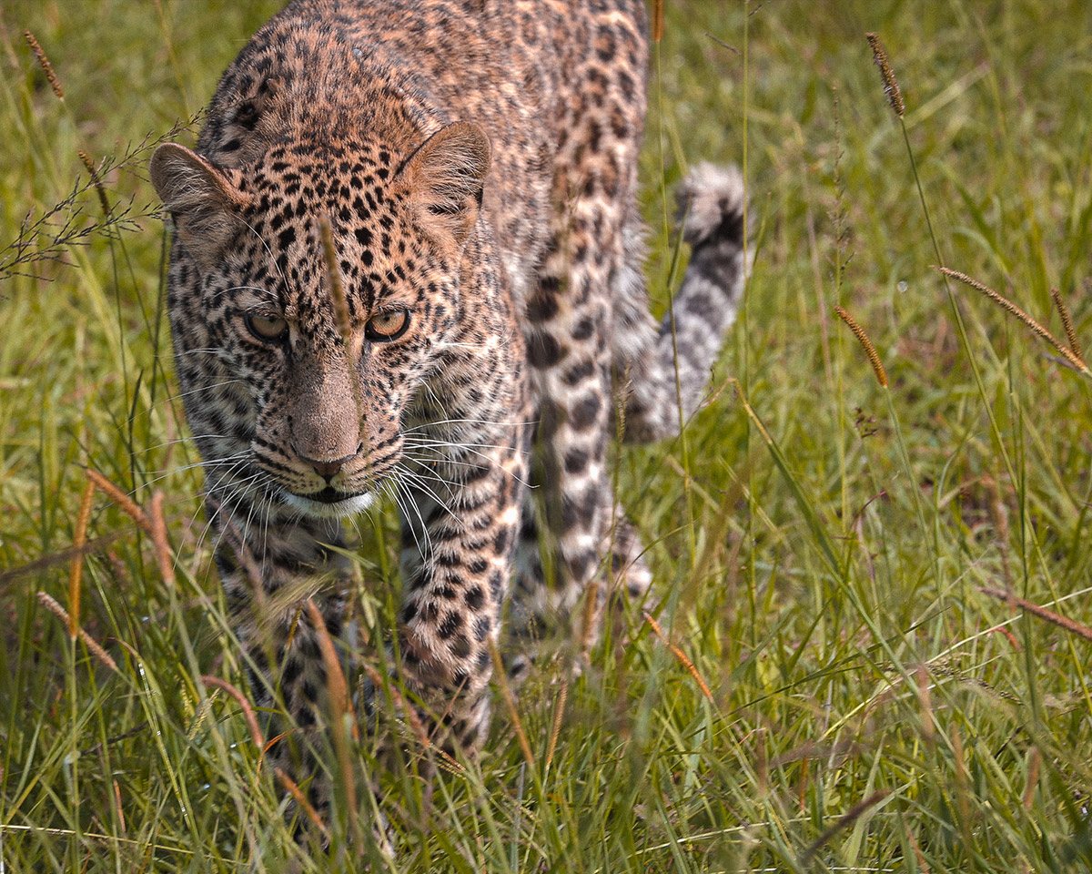
[(477, 125), (456, 121), (434, 133), (402, 168), (426, 226), (461, 248), (482, 208), (489, 172), (489, 138)]

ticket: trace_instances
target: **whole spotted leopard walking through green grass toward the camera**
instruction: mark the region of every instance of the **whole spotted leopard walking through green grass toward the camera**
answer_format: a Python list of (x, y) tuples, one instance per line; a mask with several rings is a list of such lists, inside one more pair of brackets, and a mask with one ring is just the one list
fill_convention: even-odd
[(701, 406), (749, 269), (740, 173), (697, 165), (650, 312), (648, 63), (643, 0), (293, 0), (197, 147), (155, 151), (214, 563), (258, 704), (300, 730), (353, 612), (344, 520), (387, 496), (391, 670), (442, 749), (485, 742), (498, 645), (645, 597), (612, 446)]

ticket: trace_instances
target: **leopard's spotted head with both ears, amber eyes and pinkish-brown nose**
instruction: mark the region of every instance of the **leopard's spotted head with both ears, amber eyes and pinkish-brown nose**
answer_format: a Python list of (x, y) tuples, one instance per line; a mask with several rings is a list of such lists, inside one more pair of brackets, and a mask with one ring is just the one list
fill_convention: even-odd
[[(171, 304), (178, 357), (209, 350), (218, 365), (181, 374), (183, 388), (233, 399), (232, 421), (211, 423), (214, 454), (240, 460), (233, 479), (251, 495), (339, 517), (397, 476), (412, 405), (464, 327), (460, 268), (488, 157), (472, 125), (408, 158), (284, 143), (225, 170), (157, 152), (153, 181), (185, 250), (173, 261), (189, 264), (194, 296)], [(207, 404), (193, 406), (200, 420)]]

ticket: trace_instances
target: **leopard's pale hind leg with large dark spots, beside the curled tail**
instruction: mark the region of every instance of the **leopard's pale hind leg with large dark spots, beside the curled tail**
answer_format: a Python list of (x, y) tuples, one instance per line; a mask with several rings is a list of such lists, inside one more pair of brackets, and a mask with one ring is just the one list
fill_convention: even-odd
[[(554, 625), (558, 614), (568, 614), (589, 583), (604, 578), (604, 558), (612, 552), (613, 314), (607, 291), (622, 251), (620, 231), (608, 233), (615, 218), (594, 199), (569, 204), (557, 217), (527, 302), (524, 330), (538, 409), (532, 498), (538, 506), (537, 519), (529, 515), (524, 524), (513, 604), (517, 635), (536, 634)], [(607, 255), (596, 257), (596, 249)], [(601, 588), (593, 614), (604, 594)], [(596, 615), (591, 618), (597, 624)]]

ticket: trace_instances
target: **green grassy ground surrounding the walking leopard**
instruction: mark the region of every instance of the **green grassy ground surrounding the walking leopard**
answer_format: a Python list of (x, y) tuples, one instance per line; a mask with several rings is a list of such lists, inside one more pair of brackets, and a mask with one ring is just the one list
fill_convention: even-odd
[[(685, 439), (618, 453), (660, 630), (633, 610), (572, 683), (562, 651), (514, 717), (498, 692), (486, 752), (430, 804), (412, 768), (383, 772), (394, 862), (344, 789), (332, 849), (297, 848), (239, 704), (201, 681), (245, 688), (179, 440), (142, 142), (277, 5), (0, 8), (0, 872), (1092, 869), (1090, 642), (982, 591), (1092, 624), (1090, 381), (931, 267), (1064, 336), (1057, 286), (1092, 345), (1087, 4), (668, 0), (643, 166), (656, 298), (687, 162), (745, 164), (756, 261), (716, 399)], [(145, 509), (164, 492), (174, 558), (99, 492), (74, 603), (84, 465)], [(393, 527), (361, 528), (375, 641)], [(369, 743), (329, 760), (367, 769)]]

